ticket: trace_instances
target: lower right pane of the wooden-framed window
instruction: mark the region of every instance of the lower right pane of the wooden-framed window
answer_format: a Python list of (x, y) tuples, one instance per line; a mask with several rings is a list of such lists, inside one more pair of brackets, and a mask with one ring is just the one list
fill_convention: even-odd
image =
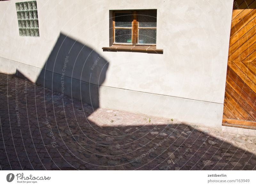
[(139, 29), (138, 43), (156, 44), (156, 29)]

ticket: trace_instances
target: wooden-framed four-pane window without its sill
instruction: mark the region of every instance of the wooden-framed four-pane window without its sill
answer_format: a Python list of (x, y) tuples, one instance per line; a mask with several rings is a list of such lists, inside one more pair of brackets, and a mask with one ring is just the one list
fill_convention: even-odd
[(113, 44), (156, 45), (156, 10), (113, 11)]

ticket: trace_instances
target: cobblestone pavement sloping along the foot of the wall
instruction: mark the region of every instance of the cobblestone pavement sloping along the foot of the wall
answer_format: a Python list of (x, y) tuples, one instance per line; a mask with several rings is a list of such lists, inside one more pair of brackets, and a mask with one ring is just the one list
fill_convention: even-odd
[(255, 136), (97, 109), (0, 74), (2, 170), (255, 170)]

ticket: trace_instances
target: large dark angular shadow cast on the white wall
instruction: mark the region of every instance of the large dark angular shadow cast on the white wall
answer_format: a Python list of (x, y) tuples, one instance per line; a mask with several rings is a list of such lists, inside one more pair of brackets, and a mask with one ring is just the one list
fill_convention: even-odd
[(108, 61), (99, 53), (60, 33), (36, 83), (97, 109), (107, 70)]

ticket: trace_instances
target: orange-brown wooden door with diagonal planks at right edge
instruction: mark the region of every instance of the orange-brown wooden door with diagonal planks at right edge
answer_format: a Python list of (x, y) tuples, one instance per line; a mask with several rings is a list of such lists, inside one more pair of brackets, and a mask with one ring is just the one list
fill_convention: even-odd
[(256, 129), (256, 1), (235, 0), (222, 125)]

